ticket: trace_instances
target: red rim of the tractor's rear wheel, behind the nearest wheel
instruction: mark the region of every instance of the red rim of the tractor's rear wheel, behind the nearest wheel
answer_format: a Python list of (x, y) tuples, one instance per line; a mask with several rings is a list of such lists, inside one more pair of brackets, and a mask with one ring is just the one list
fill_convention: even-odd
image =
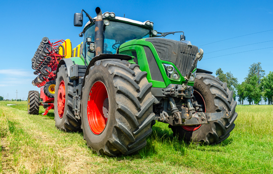
[(59, 85), (57, 104), (59, 117), (63, 118), (66, 104), (66, 86), (64, 81), (62, 81)]

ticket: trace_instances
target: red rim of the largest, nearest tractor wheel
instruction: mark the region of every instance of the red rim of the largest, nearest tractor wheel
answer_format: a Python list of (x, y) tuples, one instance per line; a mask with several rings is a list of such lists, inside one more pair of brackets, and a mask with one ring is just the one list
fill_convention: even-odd
[(105, 85), (96, 82), (89, 92), (87, 118), (91, 131), (98, 135), (104, 130), (108, 120), (109, 100)]

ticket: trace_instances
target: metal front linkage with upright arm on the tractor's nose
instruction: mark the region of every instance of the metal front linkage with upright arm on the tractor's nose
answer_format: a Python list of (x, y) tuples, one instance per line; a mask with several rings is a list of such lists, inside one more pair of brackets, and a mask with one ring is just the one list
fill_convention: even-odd
[[(208, 124), (210, 121), (218, 120), (221, 118), (230, 118), (231, 113), (225, 108), (222, 108), (221, 112), (217, 113), (204, 113), (199, 110), (202, 105), (198, 104), (197, 101), (192, 103), (191, 98), (193, 96), (193, 87), (188, 86), (189, 79), (194, 71), (198, 60), (201, 61), (203, 58), (204, 51), (199, 50), (195, 60), (190, 68), (190, 72), (185, 77), (185, 83), (182, 85), (170, 85), (165, 89), (165, 96), (168, 96), (168, 102), (170, 108), (164, 108), (164, 106), (159, 106), (159, 108), (164, 108), (160, 114), (155, 116), (155, 120), (168, 123), (172, 126), (193, 126), (200, 124)], [(185, 101), (185, 105), (181, 106), (180, 109), (177, 108), (175, 104), (174, 97), (181, 97)], [(167, 110), (171, 111), (172, 115), (168, 115)], [(199, 111), (199, 112), (198, 112)]]

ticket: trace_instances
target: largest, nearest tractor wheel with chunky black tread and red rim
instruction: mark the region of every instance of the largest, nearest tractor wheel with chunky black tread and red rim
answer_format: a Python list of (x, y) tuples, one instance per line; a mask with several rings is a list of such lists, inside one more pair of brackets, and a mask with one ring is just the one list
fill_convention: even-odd
[(155, 114), (146, 72), (128, 61), (106, 59), (86, 72), (81, 121), (87, 145), (98, 155), (129, 155), (146, 146)]

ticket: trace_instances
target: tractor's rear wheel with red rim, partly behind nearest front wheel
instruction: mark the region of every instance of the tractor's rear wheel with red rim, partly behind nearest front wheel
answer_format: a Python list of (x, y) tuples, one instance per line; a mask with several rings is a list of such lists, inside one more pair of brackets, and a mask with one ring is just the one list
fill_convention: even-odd
[(66, 65), (61, 65), (57, 73), (54, 95), (54, 120), (58, 129), (79, 131), (80, 120), (72, 110), (73, 82), (68, 77)]

